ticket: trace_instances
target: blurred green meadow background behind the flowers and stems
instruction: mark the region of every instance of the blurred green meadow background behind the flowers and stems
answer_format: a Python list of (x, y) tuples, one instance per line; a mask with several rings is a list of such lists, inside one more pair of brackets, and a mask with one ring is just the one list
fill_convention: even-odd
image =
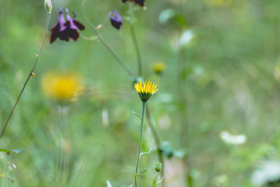
[[(52, 1), (80, 15), (81, 1)], [(121, 0), (87, 0), (93, 25)], [(136, 6), (137, 7), (137, 6)], [(149, 100), (165, 149), (166, 186), (278, 186), (280, 179), (280, 1), (147, 0), (135, 12), (144, 79), (160, 89)], [(43, 0), (0, 0), (2, 125), (41, 45)], [(128, 22), (107, 20), (100, 33), (134, 72)], [(1, 186), (115, 186), (134, 183), (141, 101), (133, 79), (98, 40), (48, 39), (0, 139)], [(71, 94), (69, 94), (71, 92)], [(70, 99), (71, 98), (71, 99)], [(155, 146), (145, 124), (144, 146)], [(141, 158), (141, 186), (152, 186), (156, 153)], [(62, 164), (63, 163), (63, 164)], [(63, 168), (62, 168), (63, 167)], [(188, 181), (188, 183), (187, 183)]]

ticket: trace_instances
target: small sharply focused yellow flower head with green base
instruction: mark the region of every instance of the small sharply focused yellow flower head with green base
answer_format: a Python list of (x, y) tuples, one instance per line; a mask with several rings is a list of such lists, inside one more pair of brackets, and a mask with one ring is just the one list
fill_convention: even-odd
[(140, 83), (135, 83), (134, 88), (137, 90), (140, 99), (142, 102), (148, 101), (148, 99), (151, 98), (151, 96), (158, 91), (157, 85), (155, 83), (152, 83), (150, 81), (140, 81)]

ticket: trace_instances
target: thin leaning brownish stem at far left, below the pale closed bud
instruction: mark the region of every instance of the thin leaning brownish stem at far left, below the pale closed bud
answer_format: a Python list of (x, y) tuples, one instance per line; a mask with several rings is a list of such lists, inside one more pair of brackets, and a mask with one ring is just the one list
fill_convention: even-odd
[(40, 57), (40, 55), (42, 53), (42, 50), (43, 50), (43, 45), (45, 43), (45, 36), (47, 35), (47, 32), (48, 32), (48, 25), (49, 25), (49, 23), (50, 23), (50, 13), (48, 12), (47, 20), (45, 22), (45, 32), (44, 32), (44, 35), (43, 35), (43, 41), (41, 43), (41, 48), (39, 50), (39, 53), (36, 55), (36, 60), (34, 62), (34, 65), (33, 65), (32, 69), (31, 69), (29, 75), (27, 76), (27, 79), (25, 81), (25, 84), (22, 87), (22, 90), (20, 91), (20, 94), (18, 95), (18, 99), (16, 100), (15, 104), (13, 105), (12, 111), (10, 111), (10, 115), (8, 116), (8, 119), (6, 120), (6, 123), (5, 123), (4, 127), (3, 127), (3, 130), (1, 132), (1, 134), (0, 134), (0, 138), (3, 136), (3, 133), (5, 132), (6, 127), (7, 127), (8, 123), (9, 123), (9, 121), (10, 121), (10, 118), (13, 116), (13, 112), (15, 111), (15, 107), (18, 105), (18, 102), (20, 101), (20, 97), (22, 96), (22, 93), (25, 91), (27, 83), (28, 83), (29, 79), (32, 76), (32, 73), (34, 72), (34, 70), (36, 68), (37, 62), (38, 62), (39, 57)]

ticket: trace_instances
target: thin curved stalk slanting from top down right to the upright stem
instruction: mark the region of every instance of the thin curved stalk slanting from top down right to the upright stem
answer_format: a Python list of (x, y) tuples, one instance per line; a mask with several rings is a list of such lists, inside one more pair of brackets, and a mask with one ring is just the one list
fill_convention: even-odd
[[(84, 4), (84, 2), (83, 2)], [(125, 63), (123, 62), (123, 60), (120, 60), (120, 57), (118, 57), (118, 55), (116, 54), (116, 52), (113, 50), (113, 48), (109, 45), (109, 43), (107, 43), (103, 37), (101, 36), (101, 34), (99, 34), (98, 30), (96, 27), (94, 27), (94, 25), (92, 25), (92, 23), (90, 22), (90, 20), (88, 20), (85, 17), (85, 14), (83, 13), (83, 4), (80, 7), (80, 13), (83, 16), (83, 18), (85, 19), (85, 22), (87, 22), (88, 25), (90, 25), (90, 28), (93, 30), (93, 32), (97, 35), (97, 38), (99, 39), (99, 41), (107, 48), (107, 50), (109, 50), (109, 52), (113, 55), (113, 57), (117, 60), (118, 64), (120, 64), (120, 66), (123, 67), (123, 69), (125, 69), (125, 71), (127, 71), (128, 74), (130, 74), (133, 77), (136, 77), (137, 75), (134, 74), (134, 72), (127, 67), (127, 65), (125, 65)]]

